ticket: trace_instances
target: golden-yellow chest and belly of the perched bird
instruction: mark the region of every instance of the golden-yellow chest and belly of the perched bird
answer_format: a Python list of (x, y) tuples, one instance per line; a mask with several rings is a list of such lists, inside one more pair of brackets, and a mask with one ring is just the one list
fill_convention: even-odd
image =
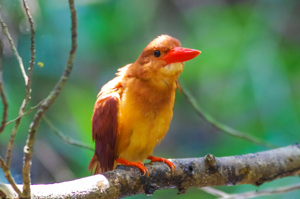
[[(120, 157), (143, 161), (169, 129), (173, 117), (175, 89), (148, 91), (128, 89), (121, 101)], [(147, 93), (147, 95), (145, 95)], [(118, 145), (117, 145), (118, 146)]]

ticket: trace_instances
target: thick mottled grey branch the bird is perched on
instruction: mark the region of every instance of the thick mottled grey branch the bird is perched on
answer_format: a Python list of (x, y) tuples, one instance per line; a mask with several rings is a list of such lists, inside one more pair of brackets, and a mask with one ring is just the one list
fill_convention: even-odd
[[(171, 160), (175, 174), (163, 163), (145, 164), (149, 178), (136, 167), (117, 166), (113, 171), (63, 183), (32, 185), (31, 198), (124, 198), (131, 195), (152, 195), (160, 189), (230, 186), (259, 186), (278, 178), (300, 174), (300, 144), (254, 154)], [(20, 188), (22, 185), (18, 185)], [(290, 189), (293, 190), (293, 189)], [(10, 185), (0, 183), (1, 191), (11, 198), (17, 194)]]

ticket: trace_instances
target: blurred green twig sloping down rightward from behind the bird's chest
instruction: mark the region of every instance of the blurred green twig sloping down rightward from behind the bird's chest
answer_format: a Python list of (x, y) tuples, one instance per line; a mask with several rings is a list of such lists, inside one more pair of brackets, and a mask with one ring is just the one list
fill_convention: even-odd
[(244, 140), (247, 140), (249, 142), (252, 142), (254, 144), (257, 145), (261, 145), (261, 146), (265, 146), (268, 148), (277, 148), (278, 146), (268, 143), (265, 140), (262, 140), (258, 137), (254, 137), (252, 135), (246, 134), (244, 132), (241, 131), (237, 131), (225, 124), (220, 123), (219, 121), (217, 121), (216, 119), (214, 119), (213, 117), (211, 117), (211, 115), (209, 115), (208, 113), (206, 113), (202, 108), (200, 108), (196, 102), (196, 100), (192, 97), (192, 95), (187, 91), (187, 89), (181, 85), (181, 91), (184, 94), (184, 96), (186, 97), (187, 101), (190, 103), (190, 105), (194, 108), (194, 110), (196, 111), (196, 113), (202, 117), (205, 121), (207, 121), (208, 123), (210, 123), (211, 125), (213, 125), (215, 128), (229, 134), (232, 135), (234, 137), (238, 137)]

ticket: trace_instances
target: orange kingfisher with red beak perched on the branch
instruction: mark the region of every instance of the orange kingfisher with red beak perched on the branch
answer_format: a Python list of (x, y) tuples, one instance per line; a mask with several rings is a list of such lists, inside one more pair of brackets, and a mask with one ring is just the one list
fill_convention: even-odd
[(173, 117), (177, 81), (184, 62), (201, 53), (181, 48), (178, 39), (161, 35), (150, 42), (137, 60), (118, 69), (97, 96), (92, 115), (95, 154), (88, 170), (94, 174), (111, 171), (117, 165), (136, 166), (144, 172), (146, 159), (171, 161), (152, 156), (153, 149), (167, 133)]

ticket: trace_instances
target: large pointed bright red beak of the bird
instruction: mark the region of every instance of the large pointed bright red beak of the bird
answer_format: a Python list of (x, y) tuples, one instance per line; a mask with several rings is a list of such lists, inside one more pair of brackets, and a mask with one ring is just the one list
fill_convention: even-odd
[(168, 65), (168, 64), (177, 63), (177, 62), (186, 62), (190, 59), (193, 59), (200, 53), (201, 53), (201, 51), (199, 51), (199, 50), (194, 50), (194, 49), (190, 49), (190, 48), (174, 47), (161, 59), (165, 60), (167, 62), (166, 65)]

